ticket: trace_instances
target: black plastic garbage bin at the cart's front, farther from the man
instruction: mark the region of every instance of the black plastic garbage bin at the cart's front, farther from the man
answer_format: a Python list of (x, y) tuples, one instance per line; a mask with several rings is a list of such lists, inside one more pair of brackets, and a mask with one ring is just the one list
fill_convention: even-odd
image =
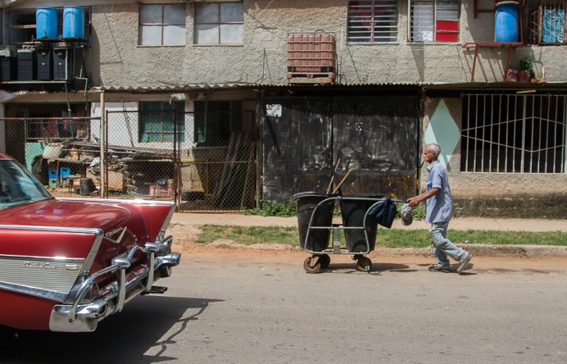
[[(299, 228), (300, 246), (309, 251), (323, 251), (329, 246), (330, 230), (328, 229), (311, 229), (309, 232), (309, 239), (307, 237), (307, 230), (309, 230), (309, 221), (311, 221), (311, 214), (319, 202), (332, 197), (332, 195), (323, 195), (313, 192), (302, 192), (293, 195), (293, 200), (297, 201), (297, 226)], [(332, 224), (332, 211), (335, 208), (335, 200), (325, 202), (325, 204), (318, 207), (313, 216), (313, 226), (331, 226)]]

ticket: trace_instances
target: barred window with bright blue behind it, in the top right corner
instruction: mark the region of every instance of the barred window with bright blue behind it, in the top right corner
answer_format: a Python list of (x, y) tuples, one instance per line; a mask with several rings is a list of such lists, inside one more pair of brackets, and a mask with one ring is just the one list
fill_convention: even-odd
[(526, 8), (528, 43), (538, 45), (565, 43), (565, 0), (529, 1)]

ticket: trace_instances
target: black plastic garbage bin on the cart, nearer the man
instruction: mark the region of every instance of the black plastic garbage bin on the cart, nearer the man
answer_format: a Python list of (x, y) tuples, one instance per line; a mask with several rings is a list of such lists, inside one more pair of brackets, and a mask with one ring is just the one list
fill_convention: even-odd
[[(349, 228), (362, 228), (366, 211), (384, 195), (345, 195), (347, 199), (341, 200), (342, 223)], [(367, 200), (374, 199), (374, 200)], [(373, 218), (366, 219), (366, 232), (370, 251), (376, 246), (377, 223)], [(362, 229), (345, 229), (344, 240), (346, 248), (352, 252), (366, 251), (366, 238)]]

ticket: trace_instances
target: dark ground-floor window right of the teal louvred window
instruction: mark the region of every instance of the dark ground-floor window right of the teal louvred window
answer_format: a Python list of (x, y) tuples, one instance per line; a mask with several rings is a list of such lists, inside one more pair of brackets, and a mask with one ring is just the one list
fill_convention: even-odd
[(195, 142), (225, 145), (231, 132), (242, 131), (239, 101), (195, 101)]

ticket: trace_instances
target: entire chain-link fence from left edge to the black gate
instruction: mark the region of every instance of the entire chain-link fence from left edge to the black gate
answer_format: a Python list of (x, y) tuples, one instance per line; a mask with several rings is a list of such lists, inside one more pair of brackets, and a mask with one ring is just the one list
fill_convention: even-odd
[(103, 190), (103, 197), (171, 200), (180, 211), (253, 207), (253, 113), (155, 104), (108, 111), (102, 135), (100, 118), (0, 119), (6, 153), (56, 197)]

